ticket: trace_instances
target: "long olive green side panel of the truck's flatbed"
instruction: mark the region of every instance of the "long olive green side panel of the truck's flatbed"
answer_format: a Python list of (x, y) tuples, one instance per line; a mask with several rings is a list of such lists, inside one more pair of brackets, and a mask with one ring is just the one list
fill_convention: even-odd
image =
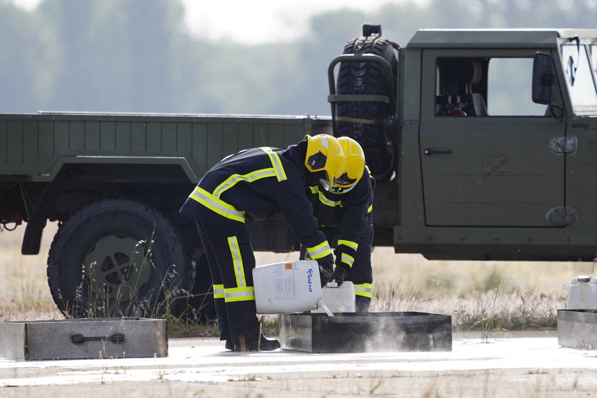
[[(19, 117), (20, 116), (20, 117)], [(51, 181), (69, 163), (178, 164), (197, 182), (227, 155), (331, 132), (327, 119), (155, 115), (0, 115), (0, 175)]]

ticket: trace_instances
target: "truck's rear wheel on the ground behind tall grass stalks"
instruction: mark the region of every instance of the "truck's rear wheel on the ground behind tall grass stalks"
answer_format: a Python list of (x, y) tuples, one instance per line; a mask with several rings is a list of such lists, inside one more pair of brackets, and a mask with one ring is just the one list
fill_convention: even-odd
[(174, 310), (190, 286), (190, 253), (162, 212), (104, 199), (61, 226), (48, 255), (48, 284), (67, 317), (153, 317)]

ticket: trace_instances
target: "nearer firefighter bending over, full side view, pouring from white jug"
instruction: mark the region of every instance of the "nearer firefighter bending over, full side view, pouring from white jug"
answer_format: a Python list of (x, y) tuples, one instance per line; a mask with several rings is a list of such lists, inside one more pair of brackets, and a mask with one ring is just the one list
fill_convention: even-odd
[(291, 230), (319, 264), (322, 285), (334, 257), (304, 195), (315, 172), (330, 187), (344, 174), (346, 156), (337, 138), (307, 135), (285, 150), (242, 150), (217, 163), (201, 178), (180, 212), (196, 221), (214, 288), (220, 340), (233, 351), (275, 350), (278, 340), (260, 334), (253, 284), (256, 266), (245, 220), (284, 215)]

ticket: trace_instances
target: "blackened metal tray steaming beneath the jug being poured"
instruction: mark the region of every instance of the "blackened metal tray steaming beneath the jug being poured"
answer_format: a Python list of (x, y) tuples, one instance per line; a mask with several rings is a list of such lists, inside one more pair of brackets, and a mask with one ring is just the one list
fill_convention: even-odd
[(284, 350), (311, 353), (451, 351), (452, 317), (420, 312), (280, 316)]

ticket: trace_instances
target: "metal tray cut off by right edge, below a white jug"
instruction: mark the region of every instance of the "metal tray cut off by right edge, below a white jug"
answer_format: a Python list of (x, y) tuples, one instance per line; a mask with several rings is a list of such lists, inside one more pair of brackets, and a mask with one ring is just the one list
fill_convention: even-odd
[(597, 310), (558, 310), (558, 344), (597, 350)]

